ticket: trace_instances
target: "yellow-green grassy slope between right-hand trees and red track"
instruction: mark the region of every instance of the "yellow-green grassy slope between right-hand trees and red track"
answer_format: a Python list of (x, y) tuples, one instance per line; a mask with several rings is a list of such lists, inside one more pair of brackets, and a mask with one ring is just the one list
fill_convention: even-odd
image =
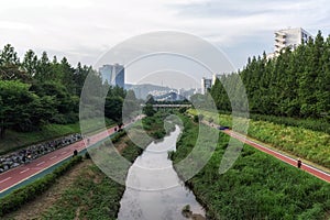
[[(188, 110), (196, 114), (196, 110)], [(205, 120), (217, 120), (217, 116), (202, 111)], [(232, 118), (228, 114), (219, 114), (221, 125), (232, 127)], [(238, 132), (240, 132), (238, 127)], [(271, 146), (305, 158), (318, 165), (330, 168), (330, 134), (312, 131), (301, 127), (285, 125), (268, 121), (250, 120), (249, 136)]]

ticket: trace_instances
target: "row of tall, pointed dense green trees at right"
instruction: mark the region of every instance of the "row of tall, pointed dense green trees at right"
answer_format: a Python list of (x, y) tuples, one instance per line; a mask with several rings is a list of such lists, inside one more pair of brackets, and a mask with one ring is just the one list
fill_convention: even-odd
[(330, 36), (324, 40), (321, 32), (295, 51), (273, 59), (253, 56), (241, 72), (222, 76), (210, 89), (218, 109), (232, 110), (224, 88), (239, 89), (238, 76), (252, 113), (330, 118)]

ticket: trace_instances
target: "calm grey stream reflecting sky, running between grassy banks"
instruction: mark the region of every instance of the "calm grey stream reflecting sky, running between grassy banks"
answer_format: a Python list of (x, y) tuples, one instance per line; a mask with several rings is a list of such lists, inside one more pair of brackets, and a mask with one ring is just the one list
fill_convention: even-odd
[(151, 143), (131, 166), (127, 178), (130, 187), (121, 199), (119, 220), (184, 220), (182, 210), (186, 205), (193, 213), (205, 216), (202, 207), (185, 188), (167, 158), (167, 152), (175, 151), (179, 133), (176, 127), (164, 141)]

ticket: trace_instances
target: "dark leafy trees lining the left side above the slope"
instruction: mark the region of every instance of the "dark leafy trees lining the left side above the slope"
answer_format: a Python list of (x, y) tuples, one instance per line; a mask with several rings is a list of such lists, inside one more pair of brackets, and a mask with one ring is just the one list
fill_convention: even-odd
[[(7, 129), (31, 131), (44, 123), (76, 122), (88, 74), (95, 90), (108, 90), (109, 85), (102, 84), (100, 74), (90, 66), (78, 63), (73, 67), (66, 57), (51, 61), (46, 52), (37, 57), (31, 50), (20, 61), (14, 47), (6, 45), (0, 50), (0, 138)], [(125, 95), (122, 88), (110, 87), (106, 117), (120, 121)]]

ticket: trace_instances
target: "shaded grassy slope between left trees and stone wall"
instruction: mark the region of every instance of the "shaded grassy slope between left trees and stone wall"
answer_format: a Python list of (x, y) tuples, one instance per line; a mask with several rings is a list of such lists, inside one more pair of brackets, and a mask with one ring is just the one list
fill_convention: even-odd
[[(108, 127), (116, 124), (111, 120), (106, 121)], [(4, 138), (0, 141), (0, 155), (73, 133), (80, 133), (79, 122), (74, 124), (45, 124), (40, 131), (32, 132), (7, 130)]]

